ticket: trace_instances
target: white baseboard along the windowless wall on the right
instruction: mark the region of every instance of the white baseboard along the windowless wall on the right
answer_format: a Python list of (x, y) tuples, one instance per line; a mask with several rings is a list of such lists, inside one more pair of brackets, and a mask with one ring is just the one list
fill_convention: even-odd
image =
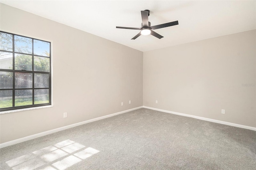
[(209, 121), (209, 122), (214, 122), (214, 123), (220, 123), (220, 124), (223, 124), (223, 125), (229, 125), (229, 126), (232, 126), (232, 127), (239, 127), (239, 128), (246, 128), (246, 129), (250, 129), (250, 130), (255, 130), (255, 131), (256, 131), (256, 127), (249, 127), (249, 126), (245, 126), (245, 125), (239, 125), (239, 124), (236, 124), (236, 123), (218, 121), (218, 120), (215, 120), (215, 119), (209, 119), (209, 118), (205, 118), (205, 117), (199, 117), (199, 116), (188, 115), (188, 114), (184, 114), (184, 113), (166, 111), (166, 110), (162, 110), (162, 109), (156, 109), (156, 108), (154, 108), (154, 107), (143, 106), (143, 108), (151, 109), (151, 110), (155, 110), (155, 111), (160, 111), (160, 112), (165, 112), (165, 113), (171, 113), (171, 114), (174, 114), (174, 115), (192, 117), (192, 118), (200, 119), (200, 120), (203, 120), (203, 121)]

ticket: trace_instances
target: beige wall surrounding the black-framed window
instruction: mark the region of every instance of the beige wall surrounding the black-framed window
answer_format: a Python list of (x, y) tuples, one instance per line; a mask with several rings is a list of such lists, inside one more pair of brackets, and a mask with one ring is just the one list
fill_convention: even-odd
[(0, 11), (1, 30), (52, 41), (54, 97), (51, 108), (0, 115), (0, 143), (142, 106), (141, 51), (4, 4)]

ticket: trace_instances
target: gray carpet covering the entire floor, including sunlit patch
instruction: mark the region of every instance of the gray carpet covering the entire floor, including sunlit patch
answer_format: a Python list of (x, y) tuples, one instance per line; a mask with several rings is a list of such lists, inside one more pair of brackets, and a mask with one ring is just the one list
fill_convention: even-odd
[(138, 109), (0, 149), (1, 170), (256, 169), (256, 131)]

